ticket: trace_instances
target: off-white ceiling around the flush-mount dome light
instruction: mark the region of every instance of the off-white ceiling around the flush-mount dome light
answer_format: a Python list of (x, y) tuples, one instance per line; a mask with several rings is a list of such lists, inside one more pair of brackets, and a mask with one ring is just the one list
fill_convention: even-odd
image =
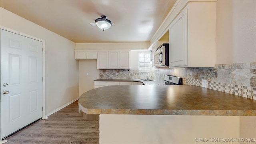
[[(73, 42), (149, 42), (176, 0), (0, 0), (0, 6)], [(113, 26), (91, 26), (106, 15)]]

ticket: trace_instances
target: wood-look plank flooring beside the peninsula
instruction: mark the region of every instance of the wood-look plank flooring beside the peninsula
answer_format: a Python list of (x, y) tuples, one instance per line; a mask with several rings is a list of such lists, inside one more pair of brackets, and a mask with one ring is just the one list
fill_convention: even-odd
[(5, 140), (5, 144), (98, 144), (99, 121), (85, 120), (77, 100)]

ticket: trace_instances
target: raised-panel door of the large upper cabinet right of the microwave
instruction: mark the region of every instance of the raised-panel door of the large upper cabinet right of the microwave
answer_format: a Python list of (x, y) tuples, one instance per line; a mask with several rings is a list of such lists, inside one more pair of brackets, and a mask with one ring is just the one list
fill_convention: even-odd
[(169, 66), (188, 65), (187, 8), (172, 22), (169, 29)]

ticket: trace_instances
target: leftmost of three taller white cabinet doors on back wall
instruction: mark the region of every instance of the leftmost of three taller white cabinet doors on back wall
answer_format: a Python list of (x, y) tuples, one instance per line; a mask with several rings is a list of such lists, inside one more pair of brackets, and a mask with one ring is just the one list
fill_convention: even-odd
[(97, 69), (108, 68), (108, 51), (98, 52)]

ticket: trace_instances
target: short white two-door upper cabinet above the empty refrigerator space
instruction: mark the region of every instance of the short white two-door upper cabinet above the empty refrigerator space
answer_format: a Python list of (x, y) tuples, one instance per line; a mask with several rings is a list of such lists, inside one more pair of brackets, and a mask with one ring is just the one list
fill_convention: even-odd
[(75, 50), (76, 60), (96, 60), (97, 51)]

